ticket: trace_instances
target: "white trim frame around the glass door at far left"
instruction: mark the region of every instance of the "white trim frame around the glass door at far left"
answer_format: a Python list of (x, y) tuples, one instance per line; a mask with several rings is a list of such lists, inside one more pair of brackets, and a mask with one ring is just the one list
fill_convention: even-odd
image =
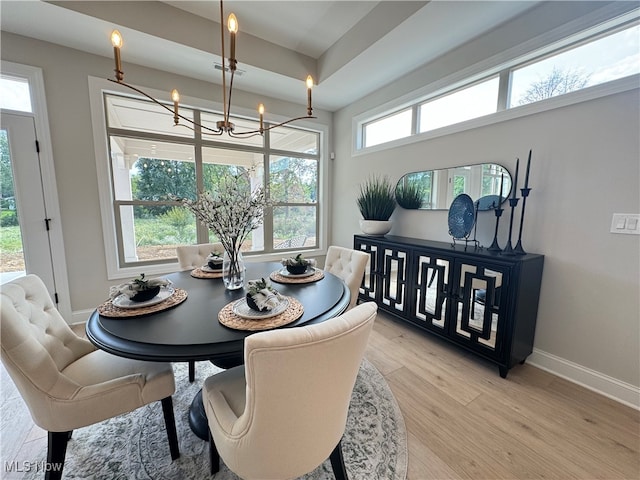
[[(36, 137), (40, 147), (40, 169), (42, 172), (42, 190), (49, 222), (49, 239), (51, 245), (51, 262), (58, 297), (58, 311), (68, 323), (72, 323), (71, 296), (69, 277), (64, 250), (63, 229), (58, 201), (58, 187), (55, 180), (55, 165), (49, 131), (49, 115), (45, 97), (44, 77), (42, 69), (19, 63), (2, 61), (3, 74), (22, 77), (28, 80), (31, 92), (32, 113), (0, 109), (0, 115), (30, 116), (33, 118)], [(43, 219), (44, 221), (44, 219)]]

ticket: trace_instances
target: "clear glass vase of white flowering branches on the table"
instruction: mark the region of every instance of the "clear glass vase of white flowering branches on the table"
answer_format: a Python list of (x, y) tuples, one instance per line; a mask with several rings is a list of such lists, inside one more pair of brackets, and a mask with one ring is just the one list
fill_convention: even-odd
[(252, 189), (249, 171), (243, 171), (222, 177), (215, 192), (203, 192), (196, 200), (182, 199), (181, 202), (222, 243), (225, 287), (242, 288), (244, 261), (240, 249), (249, 234), (262, 225), (264, 211), (270, 206), (264, 189)]

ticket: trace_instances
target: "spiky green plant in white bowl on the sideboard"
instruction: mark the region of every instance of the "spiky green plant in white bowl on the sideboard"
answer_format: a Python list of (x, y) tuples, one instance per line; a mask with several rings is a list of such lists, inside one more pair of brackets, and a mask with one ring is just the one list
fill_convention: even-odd
[(389, 178), (370, 176), (360, 185), (357, 198), (362, 215), (360, 228), (368, 235), (385, 235), (391, 230), (391, 214), (396, 208), (396, 199)]

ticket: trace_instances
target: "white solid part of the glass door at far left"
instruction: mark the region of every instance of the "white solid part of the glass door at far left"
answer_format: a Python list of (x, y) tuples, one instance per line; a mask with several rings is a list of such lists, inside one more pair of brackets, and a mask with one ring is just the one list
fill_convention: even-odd
[[(44, 200), (34, 119), (3, 114), (0, 129), (8, 140), (25, 270), (42, 278), (57, 302), (49, 238), (50, 220)], [(3, 274), (2, 278), (4, 282), (11, 275)]]

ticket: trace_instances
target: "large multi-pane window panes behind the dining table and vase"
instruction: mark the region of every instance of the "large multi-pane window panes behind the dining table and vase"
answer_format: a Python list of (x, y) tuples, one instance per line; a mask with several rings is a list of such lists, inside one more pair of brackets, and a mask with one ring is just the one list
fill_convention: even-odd
[[(103, 98), (120, 267), (175, 262), (176, 246), (217, 241), (176, 198), (215, 191), (223, 175), (240, 171), (250, 171), (252, 188), (267, 185), (274, 204), (244, 252), (318, 247), (320, 132), (279, 127), (264, 137), (207, 136), (174, 127), (171, 113), (147, 100)], [(221, 119), (195, 108), (181, 114), (204, 126)], [(238, 130), (258, 127), (233, 121)]]

